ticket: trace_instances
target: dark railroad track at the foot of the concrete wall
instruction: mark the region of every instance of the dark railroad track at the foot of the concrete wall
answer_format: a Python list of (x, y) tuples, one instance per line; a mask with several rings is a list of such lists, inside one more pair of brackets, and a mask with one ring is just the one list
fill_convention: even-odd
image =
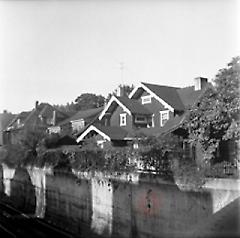
[(38, 218), (28, 216), (16, 208), (0, 202), (0, 236), (17, 238), (73, 238), (57, 227), (54, 227)]

